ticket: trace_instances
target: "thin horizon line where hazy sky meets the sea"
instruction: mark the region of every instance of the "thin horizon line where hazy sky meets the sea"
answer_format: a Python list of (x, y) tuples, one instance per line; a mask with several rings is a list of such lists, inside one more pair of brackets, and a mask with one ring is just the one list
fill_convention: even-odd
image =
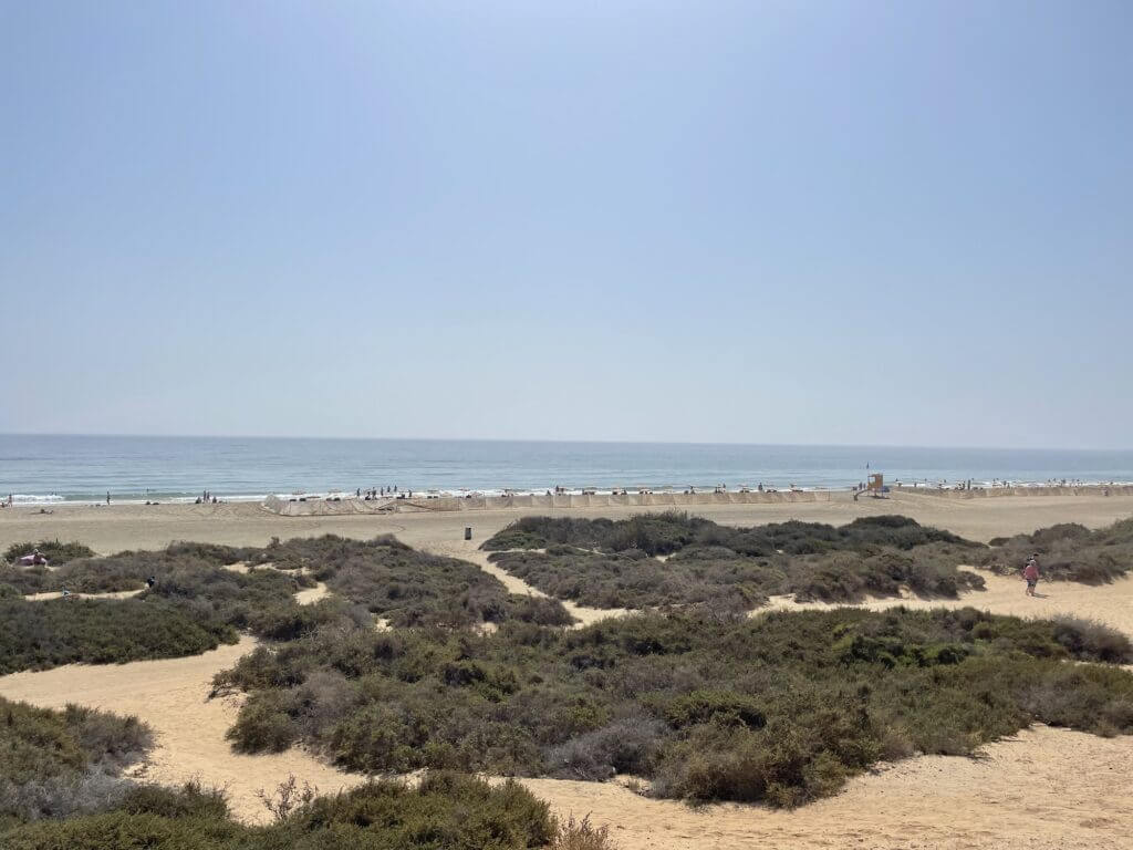
[(969, 451), (1087, 451), (1087, 452), (1127, 452), (1133, 448), (1115, 447), (1053, 447), (1053, 445), (927, 445), (919, 443), (760, 443), (760, 442), (733, 442), (733, 441), (696, 441), (696, 440), (556, 440), (546, 437), (446, 437), (446, 436), (341, 436), (341, 435), (295, 435), (295, 434), (125, 434), (125, 433), (77, 433), (63, 431), (45, 432), (17, 432), (2, 431), (0, 437), (5, 436), (59, 436), (59, 437), (107, 437), (107, 439), (133, 439), (133, 440), (325, 440), (325, 441), (352, 441), (352, 442), (423, 442), (423, 443), (579, 443), (588, 445), (721, 445), (721, 447), (743, 447), (743, 448), (792, 448), (792, 449), (928, 449), (928, 450), (969, 450)]

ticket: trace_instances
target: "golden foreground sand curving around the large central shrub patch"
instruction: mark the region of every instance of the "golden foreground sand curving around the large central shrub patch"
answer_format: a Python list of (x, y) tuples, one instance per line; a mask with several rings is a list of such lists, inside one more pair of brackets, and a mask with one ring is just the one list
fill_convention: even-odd
[[(239, 702), (207, 700), (212, 675), (255, 641), (191, 658), (67, 666), (0, 678), (0, 694), (46, 707), (68, 702), (137, 714), (157, 731), (145, 779), (193, 777), (228, 789), (233, 810), (263, 823), (256, 799), (293, 773), (323, 791), (363, 777), (300, 750), (241, 756), (224, 740)], [(615, 783), (525, 780), (561, 815), (611, 825), (625, 850), (750, 848), (1127, 848), (1133, 831), (1133, 740), (1038, 726), (986, 748), (981, 759), (920, 757), (854, 779), (837, 797), (794, 811), (691, 808)]]

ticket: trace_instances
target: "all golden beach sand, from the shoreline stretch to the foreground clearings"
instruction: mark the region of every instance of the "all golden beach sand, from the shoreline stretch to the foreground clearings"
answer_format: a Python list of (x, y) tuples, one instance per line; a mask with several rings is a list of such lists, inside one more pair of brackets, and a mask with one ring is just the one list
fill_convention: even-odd
[[(570, 516), (620, 517), (640, 509), (573, 509)], [(172, 539), (263, 544), (282, 538), (335, 533), (370, 537), (392, 533), (410, 545), (468, 558), (487, 567), (475, 550), (486, 536), (522, 511), (392, 516), (283, 518), (252, 504), (121, 505), (0, 512), (0, 545), (44, 537), (79, 539), (100, 552), (150, 549)], [(750, 525), (785, 519), (845, 522), (858, 516), (904, 513), (968, 537), (1030, 532), (1059, 521), (1091, 527), (1133, 513), (1133, 496), (1079, 495), (961, 501), (917, 494), (853, 503), (705, 505), (696, 513), (719, 522)], [(472, 525), (475, 539), (462, 539)], [(489, 568), (496, 572), (494, 568)], [(1133, 636), (1133, 579), (1101, 587), (1040, 584), (1028, 598), (1013, 579), (987, 576), (988, 589), (959, 603), (1024, 617), (1073, 614), (1106, 622)], [(508, 576), (509, 587), (526, 586)], [(310, 592), (305, 592), (310, 593)], [(312, 594), (314, 596), (314, 594)], [(312, 596), (304, 597), (309, 601)], [(776, 600), (774, 607), (795, 607)], [(883, 600), (871, 607), (900, 601)], [(931, 606), (913, 600), (905, 604)], [(610, 612), (576, 609), (585, 619)], [(267, 813), (256, 790), (272, 789), (293, 773), (322, 791), (360, 781), (301, 750), (240, 756), (224, 740), (239, 707), (237, 698), (206, 700), (212, 675), (248, 652), (254, 641), (190, 658), (109, 666), (68, 666), (0, 678), (0, 695), (59, 707), (68, 702), (145, 719), (157, 730), (157, 746), (143, 775), (159, 782), (199, 777), (228, 788), (233, 810), (263, 822)], [(853, 779), (830, 799), (793, 811), (753, 806), (691, 808), (650, 800), (616, 783), (525, 780), (561, 815), (589, 814), (611, 827), (623, 850), (678, 848), (1130, 848), (1133, 847), (1133, 738), (1098, 738), (1036, 726), (989, 745), (983, 757), (926, 756)]]

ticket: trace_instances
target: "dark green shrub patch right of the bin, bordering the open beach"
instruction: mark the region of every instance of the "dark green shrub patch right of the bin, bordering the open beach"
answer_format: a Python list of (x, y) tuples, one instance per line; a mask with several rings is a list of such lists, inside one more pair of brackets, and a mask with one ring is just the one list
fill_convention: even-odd
[[(905, 517), (753, 528), (675, 512), (616, 521), (526, 517), (484, 549), (493, 551), (493, 563), (539, 590), (590, 607), (746, 611), (781, 594), (833, 603), (906, 590), (956, 598), (985, 585), (957, 568), (981, 544)], [(658, 554), (667, 555), (664, 562)]]

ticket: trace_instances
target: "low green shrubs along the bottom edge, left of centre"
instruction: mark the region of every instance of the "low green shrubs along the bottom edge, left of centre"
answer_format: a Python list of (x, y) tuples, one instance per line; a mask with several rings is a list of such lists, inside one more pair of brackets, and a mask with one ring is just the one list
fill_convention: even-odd
[(606, 850), (604, 830), (560, 826), (545, 802), (514, 782), (431, 773), (417, 788), (369, 782), (304, 799), (270, 826), (245, 826), (223, 797), (190, 785), (139, 789), (107, 810), (0, 827), (6, 850)]

